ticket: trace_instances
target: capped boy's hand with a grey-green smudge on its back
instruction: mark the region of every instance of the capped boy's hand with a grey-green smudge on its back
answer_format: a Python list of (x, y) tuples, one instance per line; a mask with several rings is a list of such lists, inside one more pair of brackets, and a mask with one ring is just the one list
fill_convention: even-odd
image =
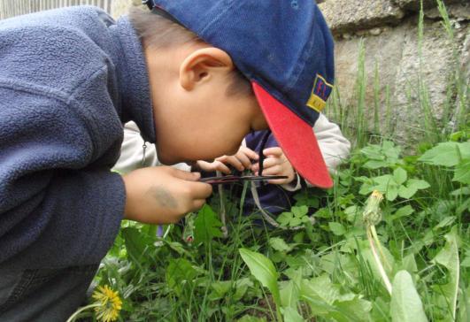
[(198, 182), (200, 173), (155, 166), (127, 173), (125, 218), (147, 224), (176, 223), (211, 196), (212, 186)]

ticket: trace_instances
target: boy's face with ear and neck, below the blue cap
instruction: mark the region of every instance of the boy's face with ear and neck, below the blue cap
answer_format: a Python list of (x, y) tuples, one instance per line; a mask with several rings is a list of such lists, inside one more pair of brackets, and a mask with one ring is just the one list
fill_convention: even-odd
[(227, 53), (187, 46), (146, 50), (158, 159), (166, 165), (232, 155), (251, 130), (266, 129), (254, 95), (227, 95)]

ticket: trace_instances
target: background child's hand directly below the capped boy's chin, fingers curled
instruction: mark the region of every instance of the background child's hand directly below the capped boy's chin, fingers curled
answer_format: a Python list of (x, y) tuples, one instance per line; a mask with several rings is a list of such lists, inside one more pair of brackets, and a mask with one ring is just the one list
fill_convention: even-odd
[(197, 161), (196, 166), (204, 172), (220, 171), (221, 173), (230, 174), (232, 165), (238, 171), (251, 169), (251, 160), (258, 160), (258, 154), (247, 147), (240, 147), (234, 156), (217, 157), (214, 162)]

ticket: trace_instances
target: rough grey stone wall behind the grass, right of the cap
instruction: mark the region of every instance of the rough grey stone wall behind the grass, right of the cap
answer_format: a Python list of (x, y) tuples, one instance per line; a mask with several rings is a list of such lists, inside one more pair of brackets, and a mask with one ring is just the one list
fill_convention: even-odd
[[(458, 64), (466, 71), (468, 84), (470, 2), (448, 0), (445, 4), (455, 29), (455, 48), (460, 56)], [(371, 115), (367, 118), (371, 120), (369, 129), (373, 129), (372, 115), (377, 100), (381, 124), (385, 123), (385, 93), (389, 89), (393, 126), (391, 133), (387, 134), (401, 142), (419, 140), (424, 118), (420, 107), (423, 97), (419, 92), (422, 93), (423, 89), (419, 88), (419, 75), (428, 90), (428, 105), (435, 118), (443, 118), (448, 95), (454, 102), (450, 110), (456, 112), (457, 98), (455, 93), (448, 92), (448, 80), (455, 71), (456, 59), (435, 0), (424, 1), (426, 9), (421, 42), (418, 37), (420, 0), (324, 0), (319, 5), (335, 36), (336, 86), (343, 108), (357, 105), (359, 47), (362, 44), (365, 48), (366, 115)], [(376, 68), (378, 79), (375, 77)], [(468, 102), (465, 108), (467, 111), (470, 108)], [(379, 134), (385, 133), (379, 130)]]

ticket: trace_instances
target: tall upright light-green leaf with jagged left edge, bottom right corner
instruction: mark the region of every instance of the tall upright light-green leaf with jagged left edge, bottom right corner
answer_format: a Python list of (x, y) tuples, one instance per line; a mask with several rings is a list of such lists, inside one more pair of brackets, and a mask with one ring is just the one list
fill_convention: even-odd
[(451, 316), (455, 320), (457, 310), (459, 259), (458, 259), (458, 233), (457, 226), (453, 226), (449, 234), (445, 234), (446, 243), (433, 259), (434, 263), (443, 265), (449, 271), (449, 283), (441, 287), (443, 295), (451, 305)]

